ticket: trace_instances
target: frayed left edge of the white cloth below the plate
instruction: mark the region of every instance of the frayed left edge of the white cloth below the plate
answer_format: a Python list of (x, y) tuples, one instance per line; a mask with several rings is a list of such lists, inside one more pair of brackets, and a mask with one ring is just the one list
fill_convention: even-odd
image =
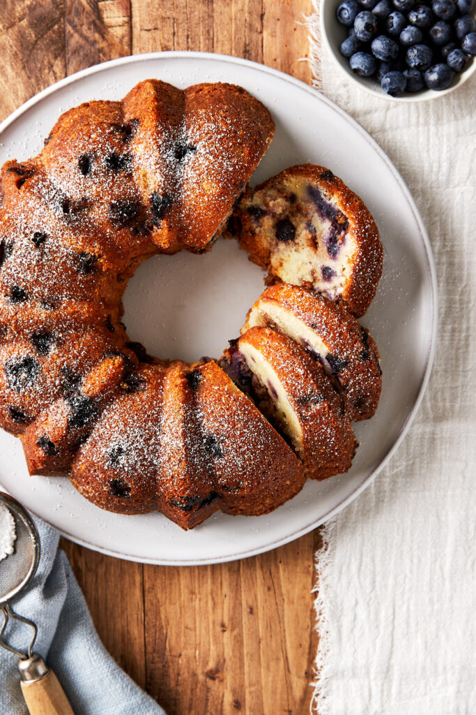
[(335, 649), (333, 648), (332, 605), (334, 578), (333, 560), (337, 532), (337, 521), (333, 519), (320, 528), (323, 546), (315, 552), (315, 593), (314, 628), (319, 633), (318, 651), (315, 655), (313, 697), (310, 702), (311, 715), (333, 715), (330, 686), (335, 673)]

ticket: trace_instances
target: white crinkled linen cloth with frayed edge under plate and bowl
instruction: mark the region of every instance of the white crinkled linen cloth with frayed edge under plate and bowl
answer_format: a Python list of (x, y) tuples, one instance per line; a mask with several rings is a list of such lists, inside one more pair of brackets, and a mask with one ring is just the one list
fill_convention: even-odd
[(310, 31), (316, 87), (407, 182), (440, 290), (435, 366), (415, 423), (373, 485), (323, 528), (313, 709), (474, 715), (476, 75), (429, 102), (388, 102), (343, 77), (321, 49), (317, 16)]

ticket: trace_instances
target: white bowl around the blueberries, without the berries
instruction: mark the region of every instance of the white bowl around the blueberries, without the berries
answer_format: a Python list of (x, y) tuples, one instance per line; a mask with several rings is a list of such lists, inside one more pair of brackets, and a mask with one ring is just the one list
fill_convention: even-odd
[(435, 92), (434, 89), (422, 89), (420, 92), (415, 92), (415, 94), (401, 94), (400, 97), (390, 97), (390, 94), (386, 94), (383, 89), (378, 84), (377, 80), (373, 77), (359, 77), (358, 74), (350, 69), (349, 61), (346, 57), (340, 54), (340, 43), (347, 37), (347, 28), (340, 24), (337, 17), (335, 16), (335, 11), (338, 8), (342, 0), (321, 0), (320, 3), (320, 29), (321, 36), (323, 38), (323, 43), (330, 51), (331, 56), (335, 60), (336, 64), (340, 69), (345, 72), (349, 77), (350, 81), (358, 85), (365, 92), (375, 95), (375, 97), (383, 97), (383, 99), (388, 99), (390, 102), (422, 102), (426, 99), (435, 99), (435, 97), (442, 97), (453, 89), (460, 87), (463, 82), (466, 82), (468, 77), (476, 71), (476, 61), (475, 59), (470, 60), (470, 65), (464, 72), (460, 74), (455, 74), (455, 77), (447, 89), (442, 89), (441, 92)]

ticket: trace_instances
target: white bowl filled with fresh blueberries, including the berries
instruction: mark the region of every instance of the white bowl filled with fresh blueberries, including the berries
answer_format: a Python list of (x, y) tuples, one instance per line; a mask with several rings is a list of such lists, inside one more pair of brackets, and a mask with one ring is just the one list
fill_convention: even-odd
[(451, 92), (476, 69), (475, 0), (322, 0), (322, 36), (371, 94), (400, 102)]

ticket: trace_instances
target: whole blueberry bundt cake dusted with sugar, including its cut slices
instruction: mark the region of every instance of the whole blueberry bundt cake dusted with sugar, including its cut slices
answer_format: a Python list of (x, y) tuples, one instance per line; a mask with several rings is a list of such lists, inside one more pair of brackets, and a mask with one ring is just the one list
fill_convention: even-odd
[[(307, 477), (348, 470), (349, 420), (375, 411), (380, 368), (346, 307), (372, 300), (380, 242), (321, 167), (247, 188), (273, 132), (241, 87), (147, 80), (122, 102), (69, 110), (37, 157), (4, 164), (0, 425), (30, 473), (188, 529), (218, 510), (268, 513)], [(152, 358), (121, 322), (128, 278), (155, 253), (209, 250), (227, 225), (277, 285), (221, 360)]]

